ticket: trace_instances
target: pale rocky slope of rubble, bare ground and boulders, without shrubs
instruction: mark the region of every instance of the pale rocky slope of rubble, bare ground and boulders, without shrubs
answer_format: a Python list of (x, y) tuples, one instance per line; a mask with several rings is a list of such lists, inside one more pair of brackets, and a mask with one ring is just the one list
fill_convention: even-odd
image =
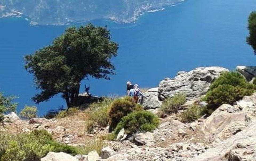
[[(238, 71), (250, 81), (252, 78), (249, 78), (251, 74), (248, 76), (247, 69), (238, 67)], [(190, 72), (179, 72), (175, 78), (161, 81), (158, 88), (148, 90), (143, 105), (146, 110), (156, 112), (164, 98), (184, 91), (188, 100), (183, 107), (189, 107), (189, 104), (198, 103), (198, 97), (206, 93), (210, 83), (222, 71), (228, 70), (221, 67), (201, 67)], [(255, 72), (251, 73), (256, 75)], [(107, 128), (95, 128), (94, 134), (84, 133), (82, 116), (74, 116), (69, 120), (38, 118), (30, 121), (19, 120), (15, 114), (6, 116), (6, 119), (7, 117), (12, 120), (8, 126), (13, 128), (8, 128), (9, 130), (25, 132), (46, 129), (59, 142), (71, 145), (85, 144), (108, 131)], [(76, 122), (75, 127), (72, 121)], [(206, 119), (200, 118), (184, 124), (175, 115), (171, 115), (161, 119), (161, 125), (154, 132), (138, 133), (122, 141), (105, 141), (106, 147), (102, 149), (101, 156), (96, 151), (75, 157), (50, 152), (41, 160), (255, 161), (255, 129), (256, 93), (245, 96), (234, 105), (221, 105)]]

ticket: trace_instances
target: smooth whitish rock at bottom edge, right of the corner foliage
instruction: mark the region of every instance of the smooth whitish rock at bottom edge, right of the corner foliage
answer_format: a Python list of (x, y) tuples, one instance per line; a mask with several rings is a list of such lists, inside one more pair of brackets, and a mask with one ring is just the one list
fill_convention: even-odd
[(49, 152), (41, 161), (79, 161), (75, 157), (64, 152)]

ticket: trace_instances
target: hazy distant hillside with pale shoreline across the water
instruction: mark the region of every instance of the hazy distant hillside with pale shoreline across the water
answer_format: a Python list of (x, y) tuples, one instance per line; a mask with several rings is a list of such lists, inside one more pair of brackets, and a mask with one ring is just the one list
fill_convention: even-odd
[(0, 0), (0, 18), (25, 16), (31, 24), (61, 25), (93, 19), (130, 23), (145, 12), (184, 0)]

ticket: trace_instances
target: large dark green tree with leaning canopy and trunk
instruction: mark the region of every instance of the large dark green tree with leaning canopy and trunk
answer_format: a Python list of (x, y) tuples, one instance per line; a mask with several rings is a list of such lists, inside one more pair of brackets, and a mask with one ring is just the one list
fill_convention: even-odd
[(34, 75), (36, 88), (41, 90), (32, 100), (40, 103), (62, 93), (68, 107), (77, 105), (83, 79), (110, 79), (115, 74), (110, 60), (117, 50), (106, 27), (67, 28), (51, 45), (25, 56), (25, 69)]

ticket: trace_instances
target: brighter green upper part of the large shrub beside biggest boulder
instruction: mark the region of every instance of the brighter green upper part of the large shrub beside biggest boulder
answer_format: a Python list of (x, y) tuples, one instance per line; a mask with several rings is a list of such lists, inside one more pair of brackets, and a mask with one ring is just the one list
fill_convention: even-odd
[(209, 91), (217, 88), (219, 85), (240, 86), (245, 89), (254, 89), (254, 85), (246, 81), (246, 79), (238, 72), (223, 72), (210, 86)]

